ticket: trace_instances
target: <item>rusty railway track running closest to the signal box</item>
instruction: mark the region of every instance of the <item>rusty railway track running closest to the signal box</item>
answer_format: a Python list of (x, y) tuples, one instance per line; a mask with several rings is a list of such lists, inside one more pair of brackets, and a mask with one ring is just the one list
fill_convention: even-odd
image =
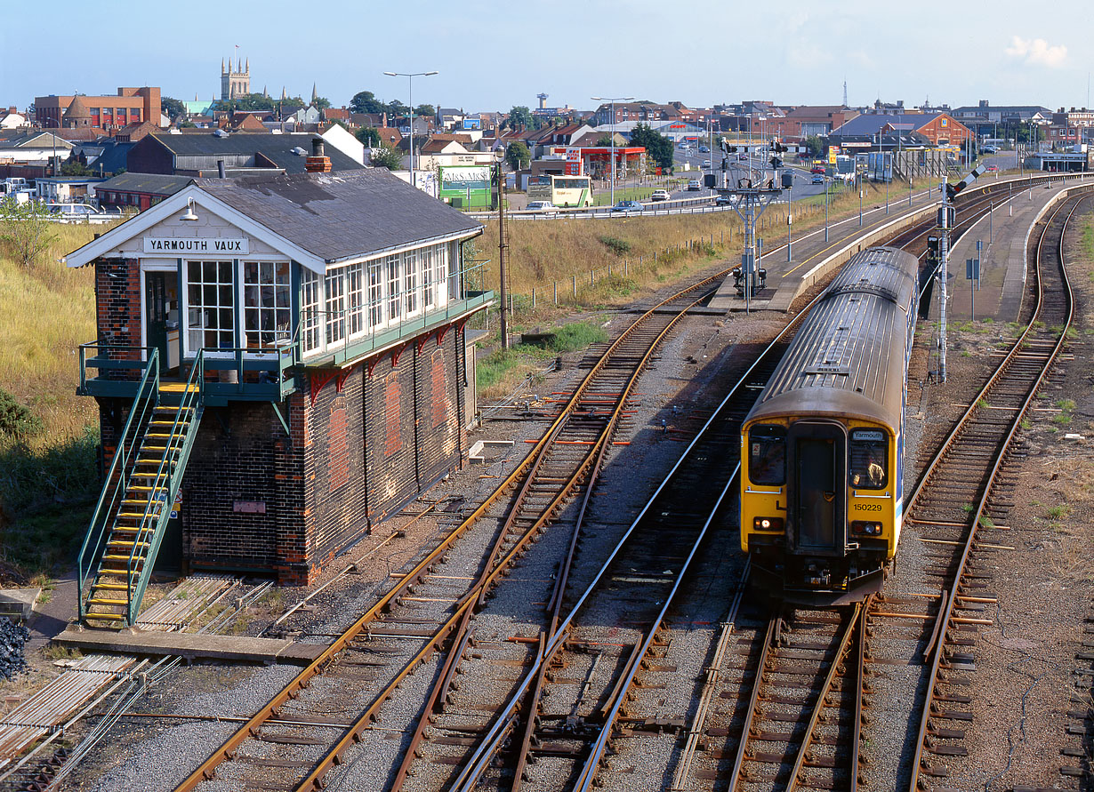
[[(628, 419), (628, 399), (653, 351), (724, 276), (695, 283), (638, 317), (597, 360), (544, 438), (494, 493), (178, 789), (199, 788), (213, 776), (244, 788), (315, 789), (365, 736), (383, 739), (372, 724), (385, 702), (398, 687), (419, 685), (426, 675), (414, 680), (411, 675), (434, 663), (437, 652), (454, 647), (445, 663), (451, 667), (451, 659), (465, 651), (473, 640), (472, 615), (487, 593), (540, 538), (568, 500), (582, 491), (587, 494), (612, 438)], [(510, 490), (515, 494), (503, 502)], [(433, 694), (427, 694), (429, 709), (443, 706), (444, 691), (452, 686), (447, 667), (442, 667)], [(421, 731), (417, 730), (415, 742)], [(412, 756), (415, 749), (411, 745), (401, 753)]]

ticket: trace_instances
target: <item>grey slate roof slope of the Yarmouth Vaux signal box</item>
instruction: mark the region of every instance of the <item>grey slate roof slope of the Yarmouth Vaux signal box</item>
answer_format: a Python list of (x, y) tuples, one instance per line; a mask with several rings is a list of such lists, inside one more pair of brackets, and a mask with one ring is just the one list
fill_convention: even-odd
[(327, 264), (482, 229), (386, 168), (195, 184)]

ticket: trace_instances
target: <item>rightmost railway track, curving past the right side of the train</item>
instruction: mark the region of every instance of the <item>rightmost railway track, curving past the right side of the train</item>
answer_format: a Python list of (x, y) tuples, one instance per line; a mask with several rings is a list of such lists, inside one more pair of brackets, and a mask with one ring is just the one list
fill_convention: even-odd
[[(922, 592), (939, 593), (928, 594), (910, 610), (899, 607), (917, 604), (908, 598), (889, 603), (898, 606), (897, 613), (872, 615), (922, 617), (930, 630), (922, 652), (928, 688), (916, 713), (918, 736), (907, 783), (912, 792), (944, 784), (946, 758), (966, 754), (962, 741), (973, 711), (964, 688), (976, 668), (971, 650), (977, 625), (988, 624), (982, 612), (994, 602), (988, 567), (996, 566), (993, 554), (1013, 549), (1001, 544), (1006, 528), (1001, 520), (1013, 503), (1014, 474), (1006, 465), (1023, 455), (1015, 435), (1071, 324), (1062, 241), (1083, 200), (1087, 199), (1078, 196), (1064, 201), (1043, 228), (1034, 269), (1033, 321), (942, 443), (909, 498), (907, 523), (929, 547), (917, 585)], [(933, 609), (921, 613), (928, 603)]]

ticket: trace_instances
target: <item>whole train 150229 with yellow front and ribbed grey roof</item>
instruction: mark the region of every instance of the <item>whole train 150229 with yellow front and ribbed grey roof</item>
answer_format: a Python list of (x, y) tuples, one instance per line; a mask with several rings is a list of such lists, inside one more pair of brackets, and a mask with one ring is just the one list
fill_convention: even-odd
[(841, 604), (881, 589), (900, 538), (918, 293), (915, 256), (853, 256), (742, 424), (741, 547), (772, 597)]

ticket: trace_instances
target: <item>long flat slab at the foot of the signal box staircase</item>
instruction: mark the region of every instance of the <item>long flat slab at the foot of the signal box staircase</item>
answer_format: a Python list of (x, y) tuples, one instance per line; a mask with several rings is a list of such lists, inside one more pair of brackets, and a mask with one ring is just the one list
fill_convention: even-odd
[(216, 660), (235, 663), (307, 665), (326, 645), (295, 643), (272, 638), (245, 636), (206, 636), (193, 632), (160, 632), (125, 628), (121, 630), (69, 627), (55, 641), (91, 652), (179, 656), (187, 660)]

